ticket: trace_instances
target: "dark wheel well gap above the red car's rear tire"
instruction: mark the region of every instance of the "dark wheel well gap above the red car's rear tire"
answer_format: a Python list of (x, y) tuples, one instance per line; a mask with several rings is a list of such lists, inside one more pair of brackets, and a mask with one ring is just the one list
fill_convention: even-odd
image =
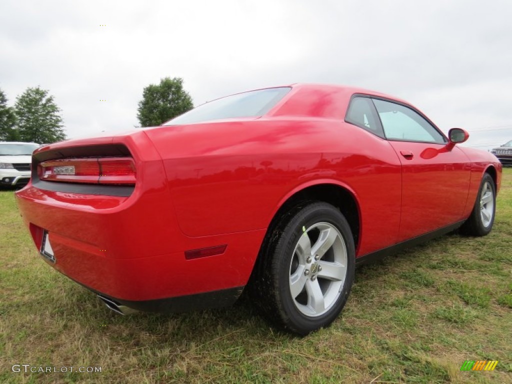
[(269, 225), (269, 232), (273, 230), (283, 215), (293, 209), (293, 207), (306, 201), (324, 201), (338, 208), (350, 225), (355, 249), (357, 250), (360, 225), (359, 207), (350, 191), (335, 184), (312, 185), (292, 195), (274, 215)]

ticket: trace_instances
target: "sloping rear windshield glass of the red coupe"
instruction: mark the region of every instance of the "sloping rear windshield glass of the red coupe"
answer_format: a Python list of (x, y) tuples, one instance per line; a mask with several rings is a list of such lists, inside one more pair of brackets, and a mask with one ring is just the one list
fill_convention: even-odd
[(222, 97), (199, 105), (162, 125), (193, 124), (237, 117), (259, 117), (270, 111), (290, 89), (289, 87), (267, 88)]

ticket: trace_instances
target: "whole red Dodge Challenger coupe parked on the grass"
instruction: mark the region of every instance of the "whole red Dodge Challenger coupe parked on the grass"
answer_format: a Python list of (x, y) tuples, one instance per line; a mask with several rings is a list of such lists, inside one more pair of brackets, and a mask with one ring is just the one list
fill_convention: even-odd
[(293, 84), (162, 126), (60, 142), (16, 193), (35, 246), (120, 313), (232, 304), (299, 334), (329, 325), (356, 265), (493, 227), (501, 164), (412, 105)]

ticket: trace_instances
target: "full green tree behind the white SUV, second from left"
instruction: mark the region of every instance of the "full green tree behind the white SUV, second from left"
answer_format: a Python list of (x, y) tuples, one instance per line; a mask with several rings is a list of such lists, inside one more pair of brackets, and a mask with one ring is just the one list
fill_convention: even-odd
[(66, 139), (60, 109), (48, 91), (27, 88), (17, 97), (14, 109), (20, 140), (44, 144)]

